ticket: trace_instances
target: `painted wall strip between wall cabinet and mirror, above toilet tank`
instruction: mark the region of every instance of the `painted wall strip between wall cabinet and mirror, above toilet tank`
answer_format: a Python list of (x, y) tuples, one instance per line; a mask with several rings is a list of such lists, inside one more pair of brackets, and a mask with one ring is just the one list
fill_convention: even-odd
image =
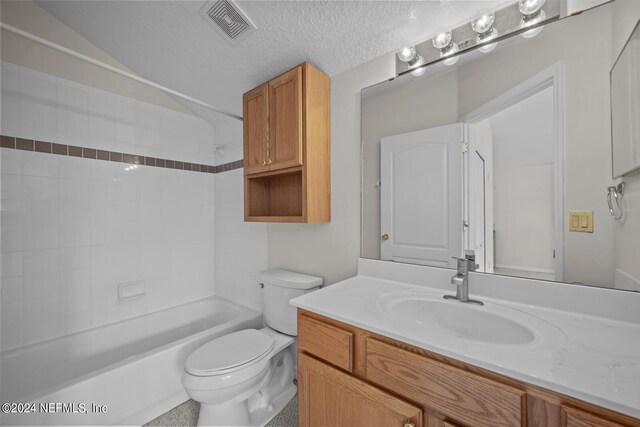
[(331, 78), (331, 222), (269, 224), (268, 264), (323, 277), (356, 274), (360, 256), (360, 91), (392, 77), (393, 54)]

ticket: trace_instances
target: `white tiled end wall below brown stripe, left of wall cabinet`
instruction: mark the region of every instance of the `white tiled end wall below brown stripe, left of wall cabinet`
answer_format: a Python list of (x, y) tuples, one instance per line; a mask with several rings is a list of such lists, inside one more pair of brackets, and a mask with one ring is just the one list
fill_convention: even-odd
[(244, 222), (243, 170), (216, 174), (214, 193), (216, 294), (262, 311), (258, 284), (267, 269), (267, 226)]

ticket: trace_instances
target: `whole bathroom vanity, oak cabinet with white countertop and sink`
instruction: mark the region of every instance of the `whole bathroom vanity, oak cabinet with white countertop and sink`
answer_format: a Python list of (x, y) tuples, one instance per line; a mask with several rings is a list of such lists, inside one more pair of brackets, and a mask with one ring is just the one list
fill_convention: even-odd
[(469, 306), (450, 275), (360, 260), (293, 300), (301, 426), (640, 426), (640, 324), (597, 311), (619, 292), (472, 273)]

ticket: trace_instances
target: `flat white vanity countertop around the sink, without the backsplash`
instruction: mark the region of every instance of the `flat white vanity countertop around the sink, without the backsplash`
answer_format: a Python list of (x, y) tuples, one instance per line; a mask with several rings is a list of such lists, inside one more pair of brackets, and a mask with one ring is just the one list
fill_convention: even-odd
[[(450, 275), (450, 274), (449, 274)], [(473, 280), (473, 279), (472, 279)], [(428, 287), (358, 275), (295, 298), (291, 304), (453, 359), (640, 418), (640, 324), (482, 296), (487, 309), (536, 317), (555, 330), (550, 340), (525, 345), (487, 344), (431, 334), (400, 322), (380, 302), (393, 294), (451, 294)], [(471, 282), (473, 297), (473, 281)], [(452, 301), (452, 304), (460, 304)], [(482, 308), (480, 308), (482, 309)], [(516, 315), (517, 317), (517, 315)]]

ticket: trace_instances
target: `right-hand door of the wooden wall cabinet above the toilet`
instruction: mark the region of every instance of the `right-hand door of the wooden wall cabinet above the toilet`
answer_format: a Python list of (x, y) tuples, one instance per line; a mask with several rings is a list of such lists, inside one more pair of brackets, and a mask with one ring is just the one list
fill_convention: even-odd
[(269, 82), (269, 170), (302, 165), (302, 67)]

